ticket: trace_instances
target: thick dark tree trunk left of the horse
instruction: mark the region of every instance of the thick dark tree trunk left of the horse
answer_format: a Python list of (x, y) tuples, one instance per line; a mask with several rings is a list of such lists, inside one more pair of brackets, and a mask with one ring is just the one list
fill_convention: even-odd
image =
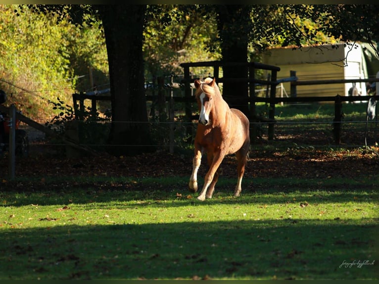
[(142, 31), (146, 5), (101, 5), (108, 53), (112, 124), (110, 152), (151, 151), (144, 94)]

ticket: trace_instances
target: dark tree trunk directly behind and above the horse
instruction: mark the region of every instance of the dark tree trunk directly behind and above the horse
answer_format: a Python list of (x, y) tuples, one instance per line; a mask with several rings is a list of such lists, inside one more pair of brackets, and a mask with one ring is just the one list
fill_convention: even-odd
[[(244, 29), (246, 22), (250, 20), (251, 9), (244, 5), (217, 5), (217, 7), (222, 61), (247, 62), (249, 33)], [(247, 68), (224, 67), (223, 72), (225, 78), (248, 78)], [(224, 83), (223, 97), (230, 107), (241, 110), (249, 117), (247, 83)]]

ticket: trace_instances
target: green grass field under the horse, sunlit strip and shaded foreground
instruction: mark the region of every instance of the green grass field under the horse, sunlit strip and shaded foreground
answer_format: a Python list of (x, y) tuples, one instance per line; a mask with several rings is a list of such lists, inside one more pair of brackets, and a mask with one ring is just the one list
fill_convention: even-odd
[(2, 191), (0, 280), (378, 279), (378, 178), (246, 179), (239, 198), (220, 178), (204, 202), (183, 178)]

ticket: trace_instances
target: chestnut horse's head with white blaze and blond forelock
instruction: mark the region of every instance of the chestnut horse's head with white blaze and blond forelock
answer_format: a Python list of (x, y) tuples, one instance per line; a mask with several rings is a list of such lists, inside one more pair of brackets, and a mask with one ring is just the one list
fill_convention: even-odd
[(209, 115), (214, 105), (213, 96), (215, 94), (216, 79), (206, 78), (203, 82), (196, 79), (194, 85), (196, 88), (195, 97), (200, 112), (199, 123), (207, 125), (210, 123)]

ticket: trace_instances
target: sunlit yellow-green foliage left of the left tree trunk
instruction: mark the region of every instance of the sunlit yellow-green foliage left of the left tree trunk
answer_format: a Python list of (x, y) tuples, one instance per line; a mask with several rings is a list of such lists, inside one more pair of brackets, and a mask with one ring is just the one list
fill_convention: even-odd
[(89, 67), (98, 86), (109, 81), (104, 39), (95, 23), (79, 28), (67, 16), (0, 5), (0, 33), (6, 39), (0, 43), (0, 87), (9, 94), (8, 103), (35, 120), (59, 114), (50, 107), (56, 97), (69, 101), (75, 90), (91, 89)]

